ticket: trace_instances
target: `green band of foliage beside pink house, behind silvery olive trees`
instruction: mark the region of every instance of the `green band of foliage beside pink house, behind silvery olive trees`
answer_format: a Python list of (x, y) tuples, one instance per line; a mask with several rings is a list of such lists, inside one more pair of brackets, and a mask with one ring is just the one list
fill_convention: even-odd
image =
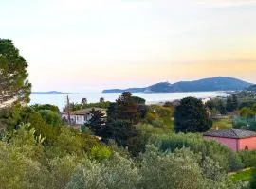
[(226, 146), (213, 140), (205, 140), (199, 134), (171, 134), (161, 135), (152, 139), (162, 151), (174, 151), (176, 148), (190, 147), (194, 153), (201, 153), (203, 160), (206, 157), (218, 162), (223, 170), (236, 171), (244, 167), (239, 156)]

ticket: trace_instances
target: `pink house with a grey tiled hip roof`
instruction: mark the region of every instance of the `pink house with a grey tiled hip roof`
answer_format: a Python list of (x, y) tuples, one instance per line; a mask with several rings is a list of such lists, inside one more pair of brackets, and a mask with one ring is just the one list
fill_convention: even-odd
[(234, 151), (256, 149), (256, 132), (244, 129), (221, 129), (208, 131), (204, 138), (215, 140)]

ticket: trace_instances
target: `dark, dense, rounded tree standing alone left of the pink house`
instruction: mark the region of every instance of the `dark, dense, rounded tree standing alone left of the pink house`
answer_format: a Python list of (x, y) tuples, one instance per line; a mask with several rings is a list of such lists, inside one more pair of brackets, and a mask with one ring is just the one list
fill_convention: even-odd
[(175, 109), (174, 125), (176, 132), (204, 132), (211, 128), (212, 122), (201, 100), (186, 97)]

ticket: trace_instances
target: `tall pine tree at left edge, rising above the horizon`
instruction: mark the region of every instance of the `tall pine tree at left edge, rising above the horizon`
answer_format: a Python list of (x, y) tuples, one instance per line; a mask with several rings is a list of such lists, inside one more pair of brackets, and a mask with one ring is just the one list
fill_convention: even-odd
[(27, 61), (10, 40), (0, 39), (0, 103), (28, 101), (31, 84), (27, 80)]

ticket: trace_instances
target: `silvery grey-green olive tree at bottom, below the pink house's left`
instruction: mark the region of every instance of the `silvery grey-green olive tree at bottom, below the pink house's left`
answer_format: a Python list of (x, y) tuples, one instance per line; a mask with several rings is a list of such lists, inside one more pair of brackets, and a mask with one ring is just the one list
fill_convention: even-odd
[(200, 164), (200, 156), (188, 148), (160, 152), (148, 146), (140, 157), (141, 188), (236, 188), (217, 163), (209, 158)]

